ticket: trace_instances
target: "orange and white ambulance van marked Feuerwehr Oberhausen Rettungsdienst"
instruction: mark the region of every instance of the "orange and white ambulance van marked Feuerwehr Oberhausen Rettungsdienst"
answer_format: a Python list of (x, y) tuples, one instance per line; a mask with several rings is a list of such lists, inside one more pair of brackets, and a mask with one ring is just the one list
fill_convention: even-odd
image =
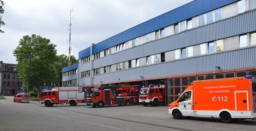
[(256, 118), (256, 76), (193, 81), (169, 105), (175, 119), (220, 117), (221, 122)]

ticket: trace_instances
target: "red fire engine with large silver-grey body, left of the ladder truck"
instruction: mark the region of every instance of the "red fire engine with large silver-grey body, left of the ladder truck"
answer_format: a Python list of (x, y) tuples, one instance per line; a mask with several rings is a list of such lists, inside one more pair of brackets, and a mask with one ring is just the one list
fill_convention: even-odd
[(59, 88), (41, 92), (40, 102), (45, 107), (52, 107), (54, 104), (70, 104), (75, 106), (78, 103), (85, 103), (83, 93), (78, 93), (78, 88)]

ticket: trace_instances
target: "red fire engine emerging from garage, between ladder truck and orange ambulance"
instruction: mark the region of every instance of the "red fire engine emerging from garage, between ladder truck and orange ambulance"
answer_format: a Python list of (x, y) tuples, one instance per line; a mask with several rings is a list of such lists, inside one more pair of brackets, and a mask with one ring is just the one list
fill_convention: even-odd
[(144, 87), (140, 89), (139, 102), (144, 106), (153, 104), (157, 106), (159, 103), (164, 104), (164, 87)]

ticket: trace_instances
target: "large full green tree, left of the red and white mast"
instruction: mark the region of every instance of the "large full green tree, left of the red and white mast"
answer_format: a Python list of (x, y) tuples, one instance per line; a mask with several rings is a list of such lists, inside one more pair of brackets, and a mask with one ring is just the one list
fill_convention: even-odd
[(58, 72), (54, 68), (57, 59), (56, 45), (50, 44), (50, 40), (32, 34), (23, 36), (19, 45), (13, 50), (18, 64), (18, 75), (24, 81), (27, 89), (37, 87), (40, 97), (40, 86), (44, 83), (52, 83), (57, 80)]

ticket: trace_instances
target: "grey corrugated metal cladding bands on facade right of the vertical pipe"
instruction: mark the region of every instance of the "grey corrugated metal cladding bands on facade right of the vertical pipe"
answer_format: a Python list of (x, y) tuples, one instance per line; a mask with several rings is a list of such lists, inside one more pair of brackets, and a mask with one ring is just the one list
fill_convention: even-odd
[[(160, 40), (152, 41), (147, 44), (136, 46), (131, 49), (126, 49), (120, 51), (119, 53), (94, 60), (94, 68), (100, 68), (106, 65), (112, 65), (136, 58), (146, 57), (148, 55), (158, 54), (170, 50), (180, 49), (183, 47), (202, 44), (213, 40), (256, 31), (255, 12), (256, 11), (253, 10), (251, 12), (247, 12), (232, 18), (224, 19), (212, 24), (207, 24), (202, 27), (181, 32), (176, 35), (165, 37)], [(220, 66), (221, 70), (256, 67), (255, 51), (255, 47), (228, 51), (224, 53), (205, 55), (196, 58), (189, 58), (100, 74), (95, 76), (93, 79), (95, 82), (103, 81), (103, 79), (104, 82), (116, 82), (118, 81), (118, 78), (120, 78), (120, 81), (124, 81), (140, 79), (138, 76), (143, 76), (144, 78), (154, 78), (189, 73), (211, 72), (217, 71), (217, 68), (215, 68), (216, 66)]]

